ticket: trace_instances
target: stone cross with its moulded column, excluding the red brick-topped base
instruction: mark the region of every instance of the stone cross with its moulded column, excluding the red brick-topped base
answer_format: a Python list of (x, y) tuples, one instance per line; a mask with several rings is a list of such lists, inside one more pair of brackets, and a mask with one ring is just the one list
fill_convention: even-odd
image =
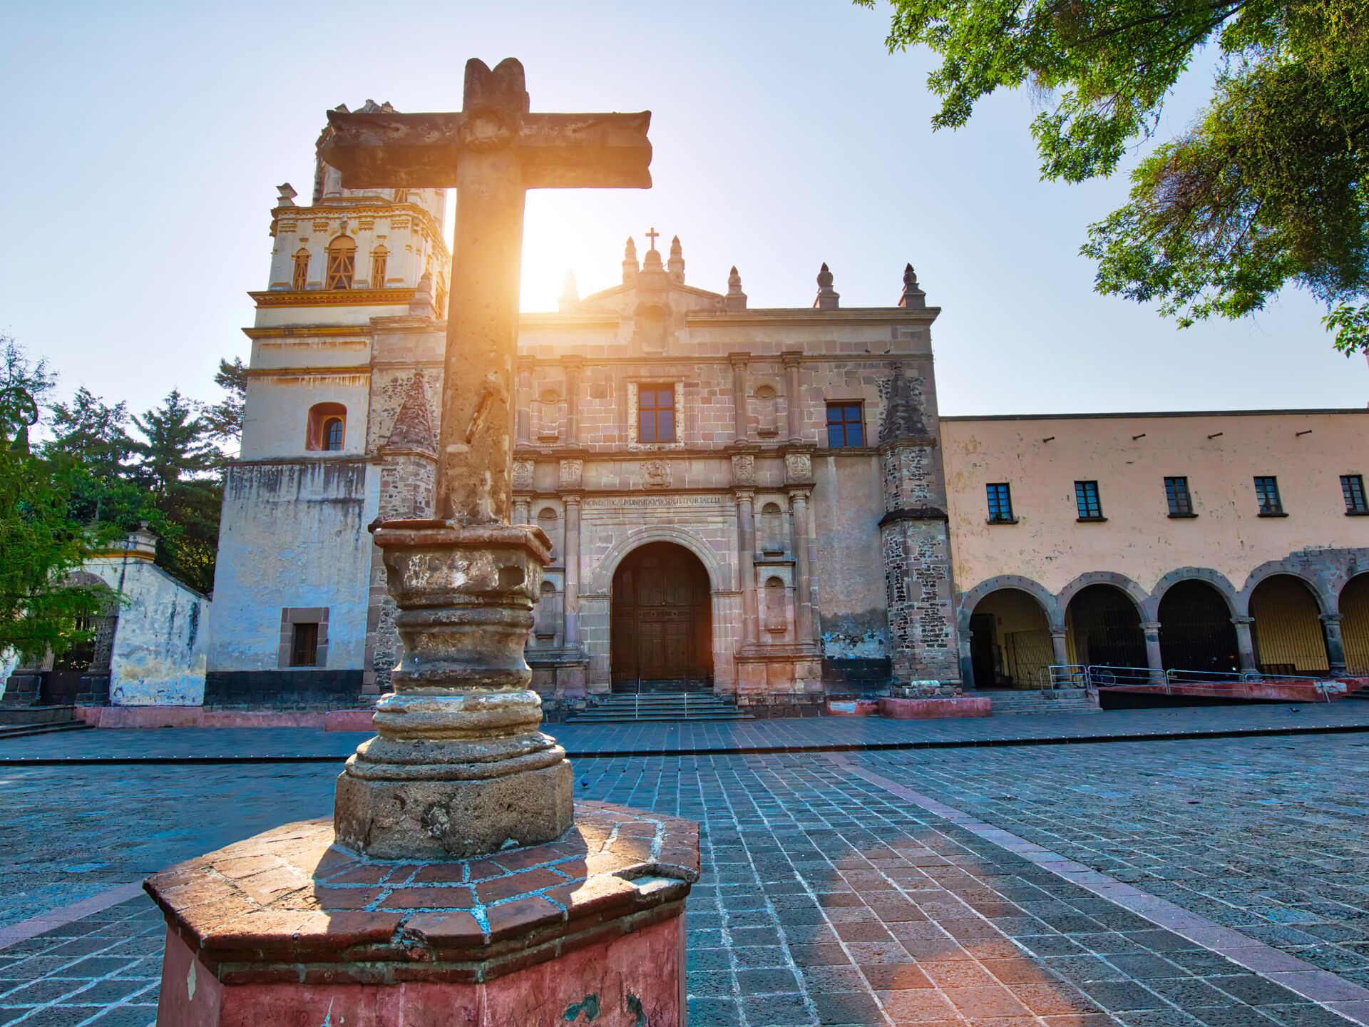
[(437, 519), (375, 526), (400, 663), (378, 738), (338, 778), (337, 839), (381, 859), (468, 859), (572, 823), (523, 655), (550, 541), (511, 524), (513, 359), (528, 189), (652, 183), (650, 114), (530, 114), (523, 66), (465, 66), (456, 114), (329, 111), (349, 189), (456, 186)]

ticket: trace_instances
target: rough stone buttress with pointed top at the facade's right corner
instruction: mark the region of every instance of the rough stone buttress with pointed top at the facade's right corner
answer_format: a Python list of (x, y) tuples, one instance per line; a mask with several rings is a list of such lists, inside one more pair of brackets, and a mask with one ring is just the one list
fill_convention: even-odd
[[(905, 272), (899, 305), (923, 305), (912, 267)], [(930, 692), (960, 692), (956, 611), (951, 597), (950, 533), (946, 475), (936, 434), (928, 427), (925, 382), (894, 366), (879, 459), (884, 516), (879, 540), (888, 594), (888, 649), (893, 685), (919, 683)]]

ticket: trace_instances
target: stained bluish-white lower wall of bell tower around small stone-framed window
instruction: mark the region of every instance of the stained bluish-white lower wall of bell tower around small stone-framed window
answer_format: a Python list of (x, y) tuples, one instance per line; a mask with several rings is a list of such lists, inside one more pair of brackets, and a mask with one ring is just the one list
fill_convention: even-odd
[(376, 468), (360, 460), (233, 467), (223, 494), (211, 671), (278, 670), (282, 607), (327, 607), (327, 668), (361, 670)]

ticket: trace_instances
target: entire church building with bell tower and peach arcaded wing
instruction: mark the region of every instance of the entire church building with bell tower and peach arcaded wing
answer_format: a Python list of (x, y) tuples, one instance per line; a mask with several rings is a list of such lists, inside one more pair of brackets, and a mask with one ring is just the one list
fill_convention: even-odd
[[(367, 526), (433, 511), (445, 197), (318, 167), (308, 205), (282, 186), (253, 293), (209, 705), (383, 692), (396, 637)], [(656, 242), (628, 240), (612, 288), (568, 282), (557, 312), (522, 316), (515, 518), (553, 542), (527, 649), (545, 697), (706, 689), (760, 712), (1164, 664), (1180, 583), (1183, 659), (1369, 664), (1364, 411), (943, 420), (939, 311), (912, 267), (887, 307), (842, 305), (824, 266), (799, 304), (756, 308), (735, 268), (701, 288), (679, 240)], [(1316, 497), (1290, 518), (1266, 508), (1280, 474)], [(1251, 594), (1279, 575), (1312, 605), (1266, 596), (1261, 633)], [(1305, 659), (1313, 630), (1324, 655)], [(1220, 639), (1195, 648), (1203, 631)]]

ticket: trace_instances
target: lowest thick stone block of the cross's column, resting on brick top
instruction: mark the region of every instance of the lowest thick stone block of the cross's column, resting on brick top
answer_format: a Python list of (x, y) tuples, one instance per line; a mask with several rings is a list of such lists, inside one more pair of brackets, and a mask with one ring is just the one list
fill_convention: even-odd
[(475, 781), (338, 776), (333, 824), (342, 845), (381, 859), (450, 859), (537, 845), (571, 826), (568, 760)]

